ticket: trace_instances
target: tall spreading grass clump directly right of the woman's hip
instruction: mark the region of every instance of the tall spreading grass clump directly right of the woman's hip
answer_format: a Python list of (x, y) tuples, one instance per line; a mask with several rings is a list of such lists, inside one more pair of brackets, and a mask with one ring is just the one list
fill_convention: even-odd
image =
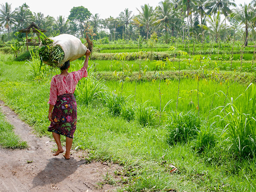
[(106, 87), (102, 81), (86, 77), (78, 82), (74, 95), (78, 102), (88, 105), (92, 101), (102, 99), (105, 92)]

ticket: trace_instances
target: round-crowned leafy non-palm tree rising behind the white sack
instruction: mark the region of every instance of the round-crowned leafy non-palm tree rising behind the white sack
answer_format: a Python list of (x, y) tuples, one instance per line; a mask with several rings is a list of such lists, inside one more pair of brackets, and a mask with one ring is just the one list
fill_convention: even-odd
[(87, 8), (84, 8), (84, 6), (73, 7), (70, 10), (68, 19), (78, 25), (77, 28), (80, 29), (82, 38), (84, 37), (84, 23), (88, 22), (91, 15), (90, 11), (88, 11)]

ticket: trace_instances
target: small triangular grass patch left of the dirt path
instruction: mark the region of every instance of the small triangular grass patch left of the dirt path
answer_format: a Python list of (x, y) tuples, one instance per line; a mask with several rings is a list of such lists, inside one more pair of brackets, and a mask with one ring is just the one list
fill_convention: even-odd
[(25, 141), (21, 141), (20, 137), (13, 132), (14, 127), (4, 119), (4, 115), (0, 113), (0, 146), (2, 148), (26, 148), (28, 145)]

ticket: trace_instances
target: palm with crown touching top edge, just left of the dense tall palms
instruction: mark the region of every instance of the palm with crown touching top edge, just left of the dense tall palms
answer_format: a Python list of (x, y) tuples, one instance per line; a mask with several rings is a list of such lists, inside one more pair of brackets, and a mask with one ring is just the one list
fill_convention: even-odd
[(158, 6), (157, 10), (158, 22), (164, 22), (165, 33), (167, 36), (167, 24), (170, 23), (174, 10), (172, 9), (172, 4), (169, 0), (161, 1), (159, 4), (160, 6)]

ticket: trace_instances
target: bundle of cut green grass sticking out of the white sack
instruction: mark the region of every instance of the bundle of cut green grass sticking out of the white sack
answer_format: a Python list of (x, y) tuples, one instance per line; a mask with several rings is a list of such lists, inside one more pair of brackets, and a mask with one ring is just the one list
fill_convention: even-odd
[(61, 67), (61, 61), (64, 59), (65, 54), (59, 45), (54, 45), (53, 40), (48, 38), (43, 33), (40, 33), (42, 46), (39, 48), (40, 59), (52, 67)]

